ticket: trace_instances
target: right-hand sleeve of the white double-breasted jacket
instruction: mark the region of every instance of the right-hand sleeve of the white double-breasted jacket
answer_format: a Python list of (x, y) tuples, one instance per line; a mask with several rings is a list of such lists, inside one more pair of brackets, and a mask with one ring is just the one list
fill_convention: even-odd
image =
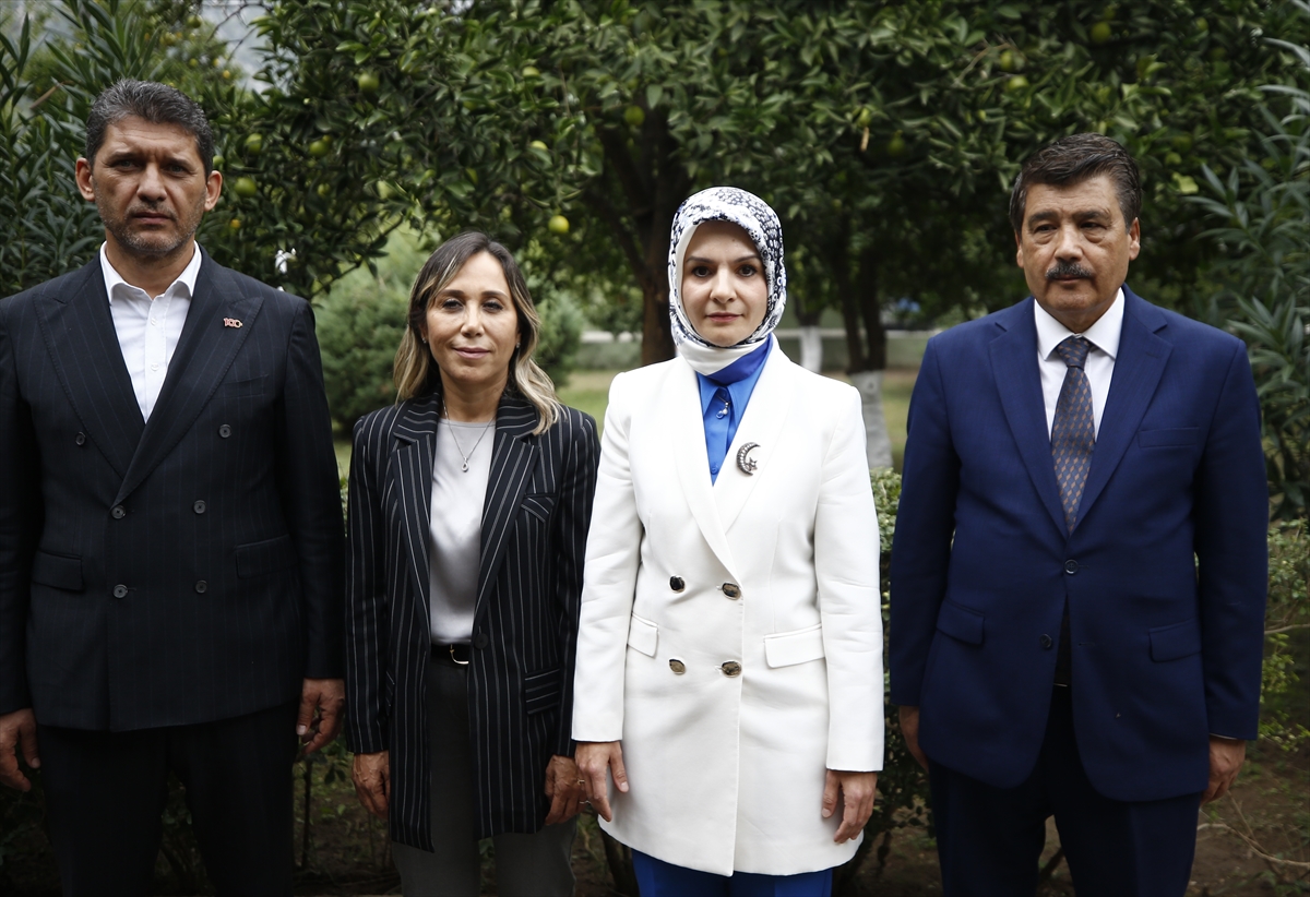
[(828, 769), (883, 767), (883, 614), (878, 513), (859, 394), (850, 390), (823, 462), (815, 580), (828, 667)]

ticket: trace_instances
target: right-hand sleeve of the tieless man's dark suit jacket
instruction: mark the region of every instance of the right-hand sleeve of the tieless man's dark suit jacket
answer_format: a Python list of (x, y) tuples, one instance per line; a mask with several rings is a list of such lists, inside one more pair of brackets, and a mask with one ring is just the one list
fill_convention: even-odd
[(341, 678), (345, 532), (341, 481), (313, 310), (303, 302), (287, 347), (276, 431), (278, 488), (300, 562), (307, 678)]

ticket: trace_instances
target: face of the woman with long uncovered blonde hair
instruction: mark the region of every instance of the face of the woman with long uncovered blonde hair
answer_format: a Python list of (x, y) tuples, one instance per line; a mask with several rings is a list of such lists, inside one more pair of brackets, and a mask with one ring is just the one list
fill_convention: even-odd
[(519, 313), (495, 255), (464, 263), (428, 305), (422, 335), (447, 384), (479, 389), (508, 380)]

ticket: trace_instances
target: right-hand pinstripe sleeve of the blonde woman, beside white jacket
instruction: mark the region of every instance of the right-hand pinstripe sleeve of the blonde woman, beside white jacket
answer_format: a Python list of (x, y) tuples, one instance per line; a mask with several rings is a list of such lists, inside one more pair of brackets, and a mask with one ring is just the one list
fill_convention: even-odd
[(591, 505), (596, 496), (596, 464), (600, 456), (596, 422), (590, 415), (576, 415), (569, 445), (565, 448), (567, 456), (555, 505), (559, 512), (555, 516), (552, 546), (557, 558), (555, 602), (559, 608), (559, 643), (563, 646), (562, 667), (566, 670), (554, 753), (572, 757), (572, 673), (578, 652), (583, 558), (587, 551), (587, 528), (591, 524)]

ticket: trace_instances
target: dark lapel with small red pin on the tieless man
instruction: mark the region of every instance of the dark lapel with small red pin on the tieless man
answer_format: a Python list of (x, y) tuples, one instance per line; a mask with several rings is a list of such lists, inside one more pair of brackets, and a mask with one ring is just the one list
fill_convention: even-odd
[[(182, 337), (117, 502), (140, 486), (195, 423), (245, 344), (262, 305), (259, 295), (246, 293), (227, 268), (203, 255)], [(227, 327), (223, 318), (236, 318), (242, 326)]]

